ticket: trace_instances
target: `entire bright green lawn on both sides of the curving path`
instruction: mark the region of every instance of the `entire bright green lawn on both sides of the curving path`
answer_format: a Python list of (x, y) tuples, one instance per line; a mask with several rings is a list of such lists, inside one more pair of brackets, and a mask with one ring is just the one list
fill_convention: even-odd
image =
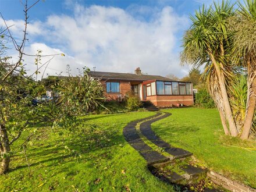
[[(256, 186), (255, 142), (224, 137), (215, 109), (166, 109), (172, 115), (153, 124), (170, 144), (194, 153), (208, 168)], [(90, 115), (74, 132), (38, 129), (26, 152), (13, 146), (11, 170), (0, 176), (0, 191), (172, 191), (156, 179), (145, 160), (125, 141), (123, 127), (154, 112)], [(233, 146), (231, 146), (233, 145)], [(236, 146), (236, 147), (234, 147)], [(241, 148), (244, 147), (244, 148)]]

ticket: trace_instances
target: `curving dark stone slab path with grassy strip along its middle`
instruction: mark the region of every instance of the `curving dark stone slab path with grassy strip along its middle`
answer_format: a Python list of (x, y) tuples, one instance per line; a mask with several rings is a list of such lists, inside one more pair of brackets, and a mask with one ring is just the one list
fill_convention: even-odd
[[(172, 147), (152, 131), (152, 123), (167, 118), (170, 115), (170, 113), (158, 112), (154, 116), (130, 122), (123, 129), (123, 135), (131, 147), (138, 151), (139, 154), (147, 161), (148, 169), (153, 175), (168, 183), (183, 183), (182, 185), (184, 185), (184, 183), (191, 183), (191, 180), (201, 177), (202, 175), (206, 176), (206, 170), (196, 168), (189, 165), (189, 163), (186, 163), (186, 157), (193, 155), (191, 152), (181, 148)], [(140, 124), (139, 129), (138, 124)], [(151, 147), (147, 143), (150, 143)], [(154, 150), (152, 148), (153, 146), (154, 148), (161, 150)], [(177, 162), (176, 159), (179, 159), (180, 167), (178, 170), (180, 171), (177, 171), (177, 168), (175, 170), (166, 170), (168, 165), (173, 166), (173, 163)], [(180, 163), (182, 161), (185, 163)], [(204, 191), (216, 190), (205, 189)]]

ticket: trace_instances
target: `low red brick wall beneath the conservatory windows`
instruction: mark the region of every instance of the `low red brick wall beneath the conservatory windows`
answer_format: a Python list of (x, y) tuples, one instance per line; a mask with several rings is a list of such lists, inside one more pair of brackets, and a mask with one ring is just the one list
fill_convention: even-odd
[(165, 107), (176, 104), (183, 104), (186, 106), (193, 105), (193, 95), (154, 95), (147, 97), (155, 106)]

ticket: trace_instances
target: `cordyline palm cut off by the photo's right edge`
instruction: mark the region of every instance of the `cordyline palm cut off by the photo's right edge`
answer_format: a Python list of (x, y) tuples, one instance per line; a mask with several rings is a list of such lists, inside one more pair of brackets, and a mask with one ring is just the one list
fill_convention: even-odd
[(233, 51), (236, 58), (242, 60), (247, 69), (247, 104), (241, 138), (250, 135), (255, 116), (256, 105), (256, 1), (247, 0), (241, 5), (236, 16), (230, 20), (230, 28), (234, 32)]

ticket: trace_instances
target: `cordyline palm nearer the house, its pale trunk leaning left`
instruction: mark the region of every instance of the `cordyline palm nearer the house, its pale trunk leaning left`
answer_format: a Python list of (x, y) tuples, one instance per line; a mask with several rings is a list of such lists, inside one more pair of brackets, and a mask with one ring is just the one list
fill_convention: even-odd
[(226, 30), (227, 19), (232, 15), (234, 15), (233, 5), (228, 2), (223, 1), (221, 5), (214, 3), (214, 8), (209, 9), (202, 6), (202, 9), (191, 17), (193, 24), (184, 35), (182, 63), (191, 63), (196, 67), (204, 66), (204, 74), (208, 76), (209, 92), (213, 97), (218, 95), (221, 99), (214, 98), (225, 133), (228, 134), (227, 120), (230, 134), (237, 136), (238, 131), (226, 89), (227, 78), (232, 76), (230, 70), (227, 70), (229, 69), (227, 49), (230, 47), (230, 34)]

